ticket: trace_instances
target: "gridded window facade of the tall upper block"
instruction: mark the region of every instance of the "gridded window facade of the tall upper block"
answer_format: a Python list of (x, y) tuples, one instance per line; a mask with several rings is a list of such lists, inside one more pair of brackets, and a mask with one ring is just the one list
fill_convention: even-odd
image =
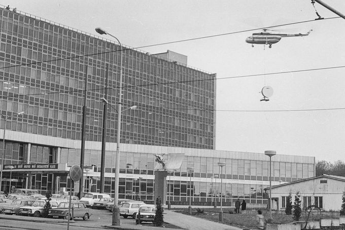
[[(86, 140), (101, 141), (106, 65), (107, 100), (115, 106), (122, 53), (123, 108), (139, 110), (123, 112), (121, 143), (214, 149), (214, 74), (40, 18), (4, 9), (0, 17), (1, 111), (25, 112), (7, 129), (81, 140), (87, 89)], [(116, 116), (109, 108), (107, 142), (116, 141)]]

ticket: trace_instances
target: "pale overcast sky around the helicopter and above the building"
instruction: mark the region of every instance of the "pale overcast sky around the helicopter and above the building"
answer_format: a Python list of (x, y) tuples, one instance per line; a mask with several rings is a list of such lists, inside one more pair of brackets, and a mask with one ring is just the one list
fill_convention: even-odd
[[(323, 2), (345, 14), (343, 0)], [(0, 4), (93, 35), (97, 35), (94, 28), (101, 27), (133, 48), (176, 42), (141, 50), (178, 52), (188, 56), (190, 67), (217, 74), (217, 150), (275, 150), (315, 156), (317, 161), (345, 161), (345, 19), (318, 3), (315, 8), (324, 20), (314, 20), (310, 0), (0, 0)], [(282, 38), (272, 48), (253, 48), (245, 42), (260, 28), (289, 23), (294, 24), (274, 29), (313, 31), (306, 37)], [(240, 32), (244, 30), (251, 31)], [(190, 41), (177, 42), (181, 40)], [(264, 86), (273, 89), (268, 102), (260, 101)]]

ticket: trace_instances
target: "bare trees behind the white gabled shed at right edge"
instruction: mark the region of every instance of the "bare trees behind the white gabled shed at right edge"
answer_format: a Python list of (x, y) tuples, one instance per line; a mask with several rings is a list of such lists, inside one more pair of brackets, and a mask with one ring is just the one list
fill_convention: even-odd
[(334, 163), (319, 160), (315, 166), (315, 174), (316, 176), (328, 174), (345, 177), (345, 163), (342, 160), (337, 160)]

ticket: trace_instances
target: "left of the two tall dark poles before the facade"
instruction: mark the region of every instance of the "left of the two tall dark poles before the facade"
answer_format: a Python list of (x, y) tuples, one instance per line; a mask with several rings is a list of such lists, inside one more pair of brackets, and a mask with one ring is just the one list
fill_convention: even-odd
[[(86, 133), (86, 96), (87, 96), (87, 65), (85, 65), (85, 89), (84, 89), (84, 106), (83, 106), (83, 120), (82, 120), (82, 145), (80, 149), (80, 169), (84, 174), (84, 156), (85, 156), (85, 133)], [(83, 197), (84, 192), (84, 177), (79, 181), (79, 199)]]

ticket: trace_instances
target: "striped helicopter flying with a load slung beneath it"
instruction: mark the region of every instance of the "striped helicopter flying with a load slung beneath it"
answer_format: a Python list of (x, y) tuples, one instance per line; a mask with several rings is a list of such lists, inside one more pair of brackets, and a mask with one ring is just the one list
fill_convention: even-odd
[(283, 37), (303, 37), (308, 36), (313, 29), (310, 29), (306, 34), (282, 34), (279, 32), (274, 32), (272, 30), (263, 29), (261, 32), (254, 32), (252, 36), (246, 39), (247, 43), (252, 44), (264, 44), (269, 45), (269, 48), (272, 48), (272, 44), (279, 42)]

